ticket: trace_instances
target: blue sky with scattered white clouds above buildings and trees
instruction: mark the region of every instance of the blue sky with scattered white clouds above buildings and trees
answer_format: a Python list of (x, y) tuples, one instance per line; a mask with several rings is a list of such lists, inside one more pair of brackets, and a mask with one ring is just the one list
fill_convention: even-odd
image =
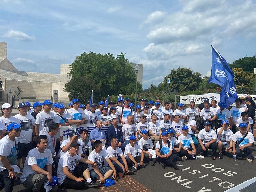
[(232, 63), (253, 56), (255, 1), (0, 1), (0, 41), (21, 71), (60, 73), (82, 52), (126, 53), (143, 88), (172, 68), (209, 74), (211, 46)]

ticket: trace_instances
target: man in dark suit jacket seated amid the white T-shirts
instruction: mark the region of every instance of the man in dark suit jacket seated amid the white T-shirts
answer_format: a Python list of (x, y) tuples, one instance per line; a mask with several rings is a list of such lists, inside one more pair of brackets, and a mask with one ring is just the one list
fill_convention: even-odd
[(118, 139), (118, 147), (122, 149), (124, 152), (125, 149), (125, 144), (124, 144), (124, 137), (123, 137), (123, 132), (122, 132), (122, 127), (118, 126), (118, 120), (117, 118), (112, 119), (112, 125), (108, 127), (108, 145), (111, 145), (110, 143), (110, 138), (111, 137), (116, 137)]

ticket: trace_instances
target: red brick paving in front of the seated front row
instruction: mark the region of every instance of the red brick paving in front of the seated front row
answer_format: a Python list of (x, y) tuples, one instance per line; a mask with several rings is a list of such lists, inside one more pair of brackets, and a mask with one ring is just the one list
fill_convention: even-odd
[(130, 191), (139, 191), (139, 192), (151, 192), (144, 185), (140, 184), (138, 181), (132, 177), (125, 175), (120, 180), (116, 181), (115, 185), (110, 187), (100, 187), (100, 192), (130, 192)]

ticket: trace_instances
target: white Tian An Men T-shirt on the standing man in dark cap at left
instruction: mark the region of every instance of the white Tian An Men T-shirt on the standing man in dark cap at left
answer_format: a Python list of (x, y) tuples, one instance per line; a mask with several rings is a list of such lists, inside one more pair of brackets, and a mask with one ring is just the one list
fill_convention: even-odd
[(35, 126), (35, 119), (32, 115), (20, 115), (13, 116), (16, 118), (16, 123), (21, 124), (21, 132), (18, 137), (20, 143), (30, 143), (32, 141), (33, 127)]

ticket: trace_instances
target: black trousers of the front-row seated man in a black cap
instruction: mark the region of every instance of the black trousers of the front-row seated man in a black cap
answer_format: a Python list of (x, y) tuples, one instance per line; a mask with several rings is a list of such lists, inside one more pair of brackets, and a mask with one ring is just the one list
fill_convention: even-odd
[[(86, 169), (88, 169), (88, 165), (86, 163), (80, 162), (79, 165), (77, 165), (77, 167), (74, 169), (72, 175), (76, 177), (82, 176), (84, 170)], [(60, 187), (65, 189), (83, 189), (85, 188), (85, 183), (86, 182), (77, 182), (73, 179), (66, 177)]]

